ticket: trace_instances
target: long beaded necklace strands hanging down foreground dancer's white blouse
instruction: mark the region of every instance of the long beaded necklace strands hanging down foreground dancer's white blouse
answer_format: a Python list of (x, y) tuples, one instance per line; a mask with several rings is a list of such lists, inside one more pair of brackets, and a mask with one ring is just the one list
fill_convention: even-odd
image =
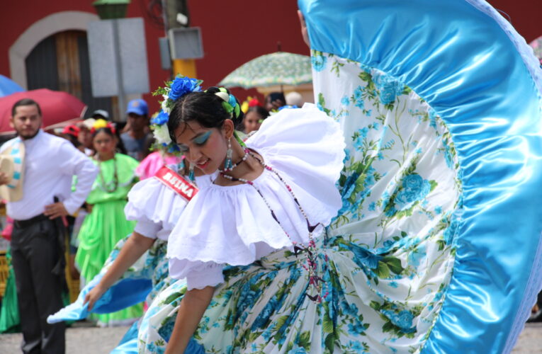
[[(307, 262), (306, 262), (306, 264), (302, 264), (302, 266), (303, 266), (303, 268), (305, 268), (305, 270), (307, 270), (307, 273), (309, 274), (309, 286), (315, 287), (315, 289), (317, 290), (317, 295), (314, 295), (314, 296), (311, 296), (311, 295), (308, 295), (308, 294), (306, 294), (306, 295), (307, 295), (307, 297), (309, 299), (311, 299), (314, 302), (322, 302), (322, 299), (325, 299), (329, 292), (326, 292), (323, 297), (320, 296), (320, 294), (322, 293), (322, 284), (320, 284), (320, 283), (324, 282), (324, 280), (320, 276), (317, 275), (317, 267), (318, 267), (318, 264), (317, 264), (317, 249), (316, 249), (315, 241), (312, 238), (312, 232), (315, 231), (318, 224), (316, 224), (316, 225), (311, 225), (310, 224), (309, 218), (307, 217), (307, 213), (305, 213), (305, 210), (303, 210), (303, 207), (299, 204), (298, 198), (295, 197), (295, 194), (293, 193), (293, 190), (290, 187), (290, 185), (288, 185), (288, 183), (286, 183), (286, 181), (283, 180), (281, 175), (278, 174), (277, 171), (273, 170), (271, 168), (271, 166), (266, 165), (264, 163), (264, 161), (261, 161), (261, 159), (259, 159), (256, 155), (249, 152), (248, 149), (246, 151), (247, 151), (247, 154), (254, 157), (254, 159), (256, 159), (256, 161), (258, 161), (259, 164), (261, 164), (261, 166), (264, 166), (264, 169), (266, 169), (267, 171), (270, 171), (275, 176), (277, 176), (278, 180), (283, 183), (283, 185), (286, 187), (286, 190), (288, 190), (288, 192), (292, 196), (293, 201), (295, 202), (295, 205), (298, 207), (299, 211), (301, 212), (301, 215), (303, 215), (303, 217), (305, 218), (305, 221), (307, 222), (307, 229), (308, 229), (308, 232), (309, 232), (309, 243), (308, 243), (308, 245), (305, 246), (304, 244), (300, 244), (300, 243), (298, 243), (296, 241), (293, 241), (293, 239), (290, 237), (290, 235), (288, 234), (286, 229), (284, 229), (281, 222), (278, 220), (278, 217), (276, 217), (276, 214), (273, 211), (273, 209), (271, 208), (271, 205), (269, 204), (269, 202), (266, 200), (263, 193), (261, 193), (261, 190), (259, 190), (259, 188), (256, 187), (256, 185), (254, 184), (253, 181), (249, 181), (249, 180), (247, 180), (245, 178), (233, 177), (233, 176), (225, 174), (223, 171), (220, 171), (220, 176), (222, 176), (224, 178), (227, 178), (230, 181), (239, 181), (239, 182), (242, 182), (242, 183), (247, 183), (248, 185), (251, 185), (256, 190), (256, 192), (258, 192), (261, 199), (264, 200), (264, 202), (267, 205), (269, 211), (271, 212), (271, 216), (273, 217), (273, 219), (275, 219), (275, 221), (281, 227), (281, 229), (286, 234), (288, 239), (292, 242), (292, 244), (293, 244), (293, 252), (294, 252), (295, 256), (297, 257), (298, 253), (300, 253), (300, 252), (307, 253)], [(244, 160), (242, 160), (242, 161), (244, 161)], [(235, 166), (237, 166), (237, 164)], [(326, 256), (326, 261), (327, 261), (327, 256)]]

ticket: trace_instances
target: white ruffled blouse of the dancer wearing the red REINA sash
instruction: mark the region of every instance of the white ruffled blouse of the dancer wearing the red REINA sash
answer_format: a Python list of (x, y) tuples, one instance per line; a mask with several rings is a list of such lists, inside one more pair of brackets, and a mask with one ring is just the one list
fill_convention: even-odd
[[(198, 188), (211, 185), (212, 176), (196, 177)], [(134, 231), (150, 239), (167, 241), (188, 202), (157, 178), (137, 182), (124, 208), (126, 219), (136, 220)]]

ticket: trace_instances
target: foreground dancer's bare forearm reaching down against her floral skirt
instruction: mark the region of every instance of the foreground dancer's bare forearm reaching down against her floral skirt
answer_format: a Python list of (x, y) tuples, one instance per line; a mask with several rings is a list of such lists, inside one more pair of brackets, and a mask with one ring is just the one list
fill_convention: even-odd
[(202, 290), (188, 290), (181, 300), (177, 319), (165, 354), (183, 354), (198, 328), (205, 309), (213, 298), (215, 287), (205, 287)]

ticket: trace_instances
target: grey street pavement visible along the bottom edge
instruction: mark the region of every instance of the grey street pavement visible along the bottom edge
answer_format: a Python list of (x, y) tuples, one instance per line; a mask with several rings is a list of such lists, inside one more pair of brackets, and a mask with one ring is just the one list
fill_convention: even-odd
[[(78, 324), (66, 333), (67, 354), (106, 354), (117, 345), (128, 327), (97, 328)], [(21, 353), (21, 334), (0, 334), (0, 353)], [(542, 323), (526, 324), (514, 354), (542, 353)]]

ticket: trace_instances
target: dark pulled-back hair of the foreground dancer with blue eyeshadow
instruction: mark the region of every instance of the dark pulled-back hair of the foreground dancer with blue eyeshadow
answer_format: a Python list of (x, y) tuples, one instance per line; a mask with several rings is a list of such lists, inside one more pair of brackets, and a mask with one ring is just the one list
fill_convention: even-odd
[[(215, 94), (217, 92), (220, 92), (218, 87), (210, 87), (205, 92), (186, 93), (186, 95), (175, 101), (167, 121), (171, 140), (176, 142), (175, 130), (182, 123), (191, 120), (196, 120), (202, 127), (206, 128), (221, 128), (227, 119), (231, 119), (235, 127), (242, 122), (244, 116), (242, 111), (238, 110), (239, 115), (235, 115), (235, 112), (228, 113), (222, 105), (222, 102), (224, 102), (222, 98)], [(227, 91), (227, 93), (230, 94), (230, 91)], [(239, 105), (237, 98), (235, 101)]]

